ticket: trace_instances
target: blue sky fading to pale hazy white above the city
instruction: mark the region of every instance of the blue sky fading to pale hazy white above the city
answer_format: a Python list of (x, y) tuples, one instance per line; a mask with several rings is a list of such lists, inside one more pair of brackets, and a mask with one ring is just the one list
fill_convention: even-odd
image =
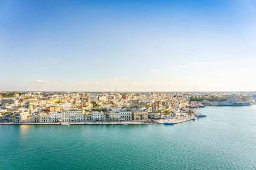
[(1, 0), (0, 91), (255, 91), (255, 8)]

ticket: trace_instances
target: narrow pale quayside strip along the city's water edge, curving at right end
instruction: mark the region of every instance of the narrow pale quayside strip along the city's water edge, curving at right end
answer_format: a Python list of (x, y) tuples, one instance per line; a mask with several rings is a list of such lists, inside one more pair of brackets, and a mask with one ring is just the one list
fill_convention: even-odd
[[(163, 121), (163, 122), (98, 122), (98, 125), (111, 125), (111, 123), (115, 123), (115, 125), (123, 125), (127, 123), (128, 125), (163, 125), (164, 122), (174, 122), (175, 124), (188, 122), (192, 120), (195, 116), (191, 116), (189, 119), (183, 119), (179, 121)], [(70, 125), (93, 125), (94, 122), (69, 122)], [(61, 123), (0, 123), (0, 125), (61, 125)]]

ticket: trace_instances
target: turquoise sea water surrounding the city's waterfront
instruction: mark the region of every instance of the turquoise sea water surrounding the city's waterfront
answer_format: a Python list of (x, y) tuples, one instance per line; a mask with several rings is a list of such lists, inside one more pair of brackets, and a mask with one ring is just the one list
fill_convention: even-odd
[(0, 170), (255, 170), (256, 105), (177, 125), (0, 125)]

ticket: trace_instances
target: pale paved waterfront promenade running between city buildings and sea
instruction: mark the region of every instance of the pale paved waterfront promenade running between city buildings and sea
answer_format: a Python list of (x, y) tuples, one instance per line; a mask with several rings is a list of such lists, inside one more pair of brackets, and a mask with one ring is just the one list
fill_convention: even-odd
[[(127, 123), (128, 125), (147, 125), (147, 124), (163, 124), (164, 122), (174, 122), (175, 124), (177, 123), (182, 123), (182, 122), (187, 122), (190, 121), (194, 118), (195, 116), (191, 116), (187, 119), (148, 119), (148, 120), (134, 120), (134, 121), (126, 121), (126, 122), (120, 122), (120, 121), (111, 121), (111, 122), (102, 122), (98, 121), (98, 125), (123, 125)], [(93, 125), (95, 122), (69, 122), (70, 125)], [(17, 123), (17, 122), (5, 122), (5, 123), (0, 123), (0, 125), (61, 125), (61, 122), (51, 122), (51, 123), (29, 123), (29, 122), (23, 122), (23, 123)]]

